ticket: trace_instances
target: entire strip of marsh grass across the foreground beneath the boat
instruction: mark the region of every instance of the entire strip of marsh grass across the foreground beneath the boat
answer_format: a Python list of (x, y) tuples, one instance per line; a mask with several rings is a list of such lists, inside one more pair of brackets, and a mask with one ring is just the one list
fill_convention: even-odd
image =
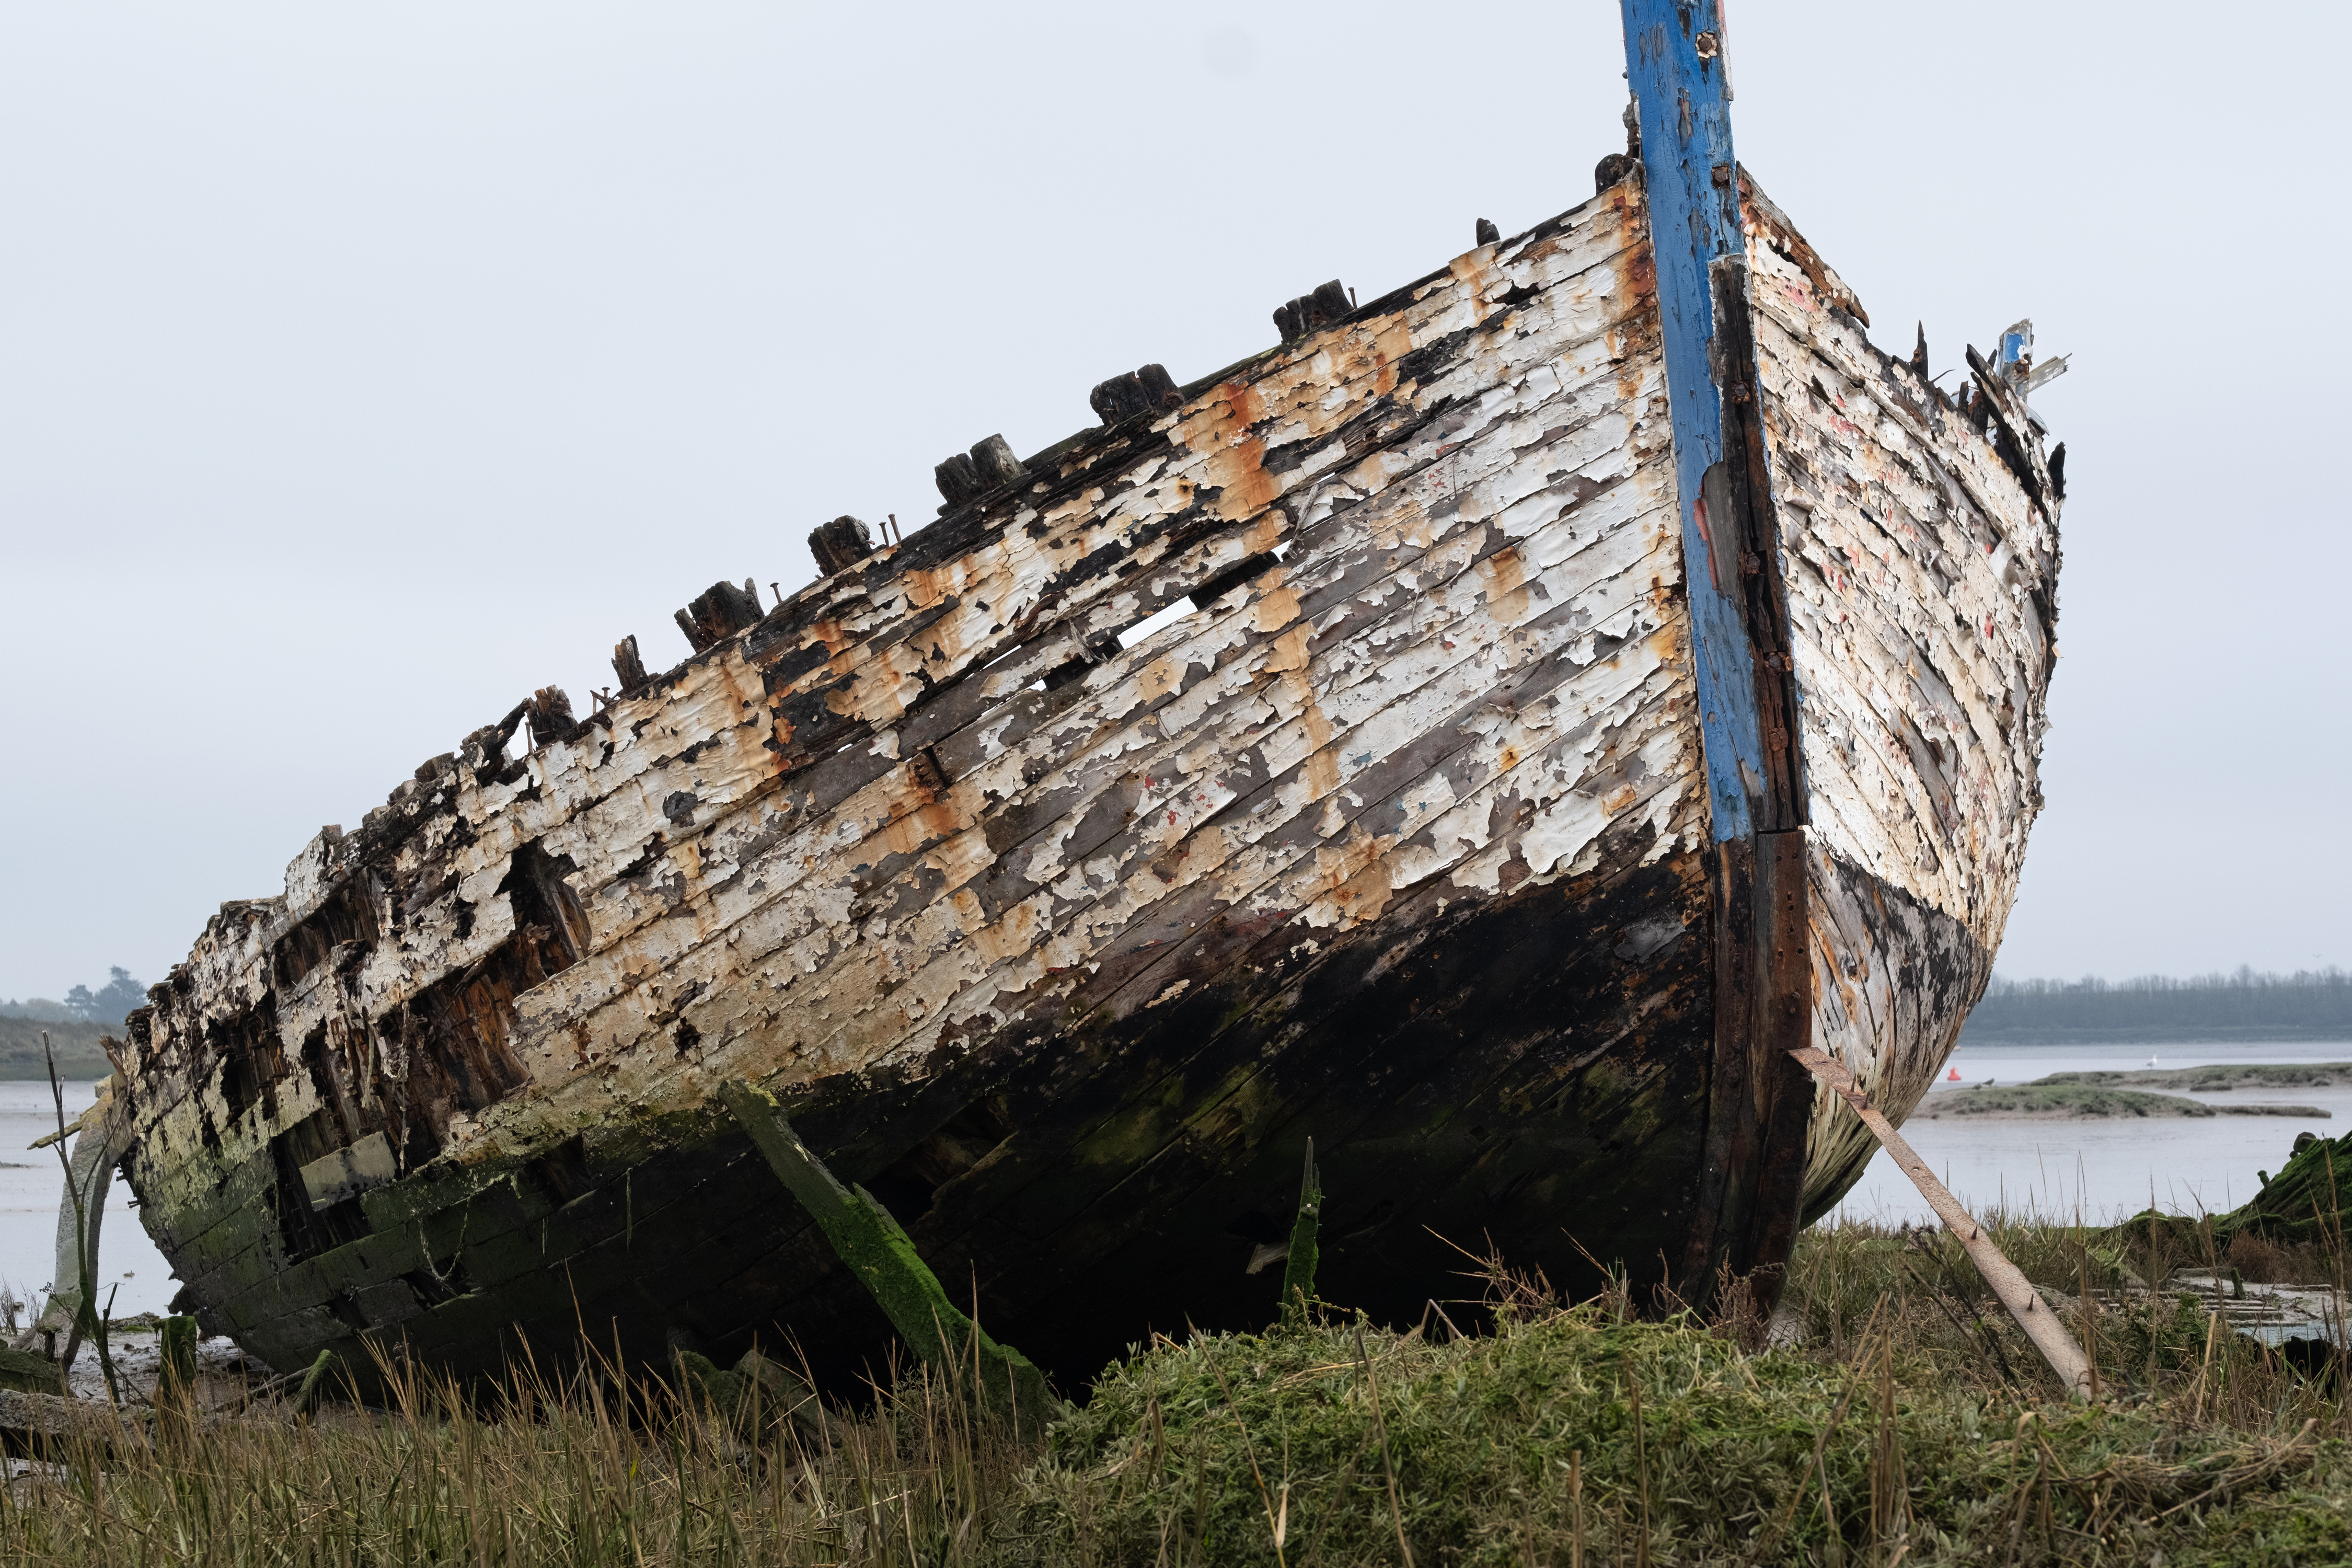
[(61, 1455), (0, 1500), (0, 1561), (2352, 1559), (2338, 1387), (2136, 1286), (2206, 1260), (2154, 1227), (2138, 1255), (2131, 1234), (1992, 1227), (2093, 1352), (2098, 1406), (2065, 1401), (1947, 1237), (1849, 1222), (1799, 1241), (1771, 1326), (1740, 1293), (1712, 1319), (1623, 1281), (1569, 1305), (1486, 1262), (1449, 1291), (1470, 1300), (1402, 1331), (1324, 1309), (1152, 1340), (1044, 1443), (920, 1366), (861, 1408), (731, 1415), (612, 1368), (524, 1368), (489, 1403), (395, 1375), (383, 1410)]

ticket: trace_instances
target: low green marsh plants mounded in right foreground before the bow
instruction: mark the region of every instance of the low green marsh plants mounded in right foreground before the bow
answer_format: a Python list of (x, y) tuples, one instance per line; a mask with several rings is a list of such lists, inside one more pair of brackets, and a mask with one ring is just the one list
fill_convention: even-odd
[[(1562, 1307), (1508, 1276), (1491, 1331), (1454, 1342), (1357, 1352), (1334, 1324), (1162, 1340), (1054, 1429), (1000, 1540), (1040, 1563), (1402, 1563), (1385, 1429), (1416, 1563), (2352, 1554), (2352, 1453), (2314, 1382), (2178, 1298), (2086, 1298), (2096, 1316), (2072, 1316), (2105, 1401), (2070, 1406), (2023, 1333), (1936, 1300), (1933, 1248), (1809, 1239), (1792, 1288), (1823, 1293), (1799, 1300), (1802, 1349), (1750, 1354), (1724, 1324)], [(2044, 1262), (2082, 1284), (2058, 1241)]]

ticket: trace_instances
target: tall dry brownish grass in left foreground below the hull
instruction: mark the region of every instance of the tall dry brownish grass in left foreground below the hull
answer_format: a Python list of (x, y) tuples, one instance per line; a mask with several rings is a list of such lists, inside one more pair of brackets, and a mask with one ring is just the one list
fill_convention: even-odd
[(0, 1493), (7, 1563), (974, 1563), (1023, 1458), (929, 1371), (870, 1408), (720, 1413), (696, 1392), (520, 1368), (485, 1403), (386, 1368), (388, 1408), (158, 1420)]

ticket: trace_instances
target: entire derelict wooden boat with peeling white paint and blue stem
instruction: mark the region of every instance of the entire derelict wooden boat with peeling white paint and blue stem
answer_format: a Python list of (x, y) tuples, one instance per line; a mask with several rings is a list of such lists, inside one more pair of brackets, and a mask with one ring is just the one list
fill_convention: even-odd
[(1065, 1385), (1265, 1321), (1310, 1138), (1329, 1300), (1446, 1239), (1769, 1295), (1870, 1145), (1788, 1051), (1900, 1117), (1990, 973), (2056, 489), (2025, 383), (1980, 430), (1738, 172), (1712, 5), (1628, 40), (1592, 200), (826, 524), (221, 905), (118, 1048), (207, 1328), (849, 1380), (889, 1319), (727, 1084)]

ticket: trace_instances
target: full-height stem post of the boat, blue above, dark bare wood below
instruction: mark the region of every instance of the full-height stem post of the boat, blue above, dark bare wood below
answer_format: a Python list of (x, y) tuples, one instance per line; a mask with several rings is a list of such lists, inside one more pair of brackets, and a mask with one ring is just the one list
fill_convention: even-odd
[(1715, 842), (1715, 1065), (1684, 1300), (1780, 1293), (1804, 1208), (1813, 1086), (1809, 792), (1757, 371), (1722, 0), (1621, 0), (1658, 282), (1682, 597)]

